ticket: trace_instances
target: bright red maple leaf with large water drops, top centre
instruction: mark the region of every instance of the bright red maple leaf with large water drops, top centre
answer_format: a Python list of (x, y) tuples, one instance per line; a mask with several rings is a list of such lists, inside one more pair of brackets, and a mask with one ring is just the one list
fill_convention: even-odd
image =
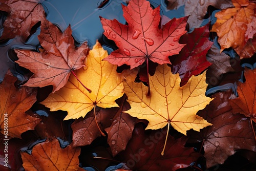
[(126, 64), (131, 69), (148, 59), (159, 64), (170, 63), (168, 56), (178, 54), (184, 47), (179, 39), (186, 33), (187, 17), (174, 18), (159, 29), (160, 7), (153, 10), (147, 1), (132, 0), (122, 8), (128, 25), (101, 18), (104, 35), (119, 48), (104, 60), (118, 66)]

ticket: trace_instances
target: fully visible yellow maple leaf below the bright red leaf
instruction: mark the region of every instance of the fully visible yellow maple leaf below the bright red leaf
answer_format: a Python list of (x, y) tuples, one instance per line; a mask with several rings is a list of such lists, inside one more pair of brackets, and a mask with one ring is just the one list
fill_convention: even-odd
[(155, 75), (150, 76), (151, 96), (146, 95), (147, 87), (142, 82), (124, 81), (124, 92), (131, 105), (125, 113), (148, 120), (146, 129), (156, 130), (170, 123), (185, 135), (190, 129), (200, 131), (211, 125), (196, 115), (212, 100), (205, 96), (205, 79), (204, 72), (180, 87), (179, 74), (172, 74), (166, 64), (158, 66)]

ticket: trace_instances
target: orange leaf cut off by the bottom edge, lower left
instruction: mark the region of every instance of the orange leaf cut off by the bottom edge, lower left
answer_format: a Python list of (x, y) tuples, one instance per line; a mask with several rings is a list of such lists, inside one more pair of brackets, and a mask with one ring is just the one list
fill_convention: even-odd
[(80, 168), (79, 147), (60, 148), (56, 138), (36, 144), (32, 154), (22, 152), (23, 167), (26, 170), (84, 170)]

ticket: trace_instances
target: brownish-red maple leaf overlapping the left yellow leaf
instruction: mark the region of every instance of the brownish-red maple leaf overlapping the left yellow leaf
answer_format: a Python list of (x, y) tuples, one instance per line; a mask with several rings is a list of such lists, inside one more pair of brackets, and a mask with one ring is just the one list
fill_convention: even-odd
[(34, 75), (24, 85), (29, 87), (45, 87), (52, 85), (53, 93), (63, 87), (70, 72), (84, 66), (83, 59), (87, 55), (87, 42), (79, 48), (74, 45), (70, 26), (62, 33), (46, 18), (41, 22), (39, 42), (43, 52), (15, 50), (19, 66), (29, 69)]

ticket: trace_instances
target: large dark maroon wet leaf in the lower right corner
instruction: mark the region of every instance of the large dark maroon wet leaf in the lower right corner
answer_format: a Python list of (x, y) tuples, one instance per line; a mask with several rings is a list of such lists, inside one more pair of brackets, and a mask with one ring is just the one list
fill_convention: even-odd
[(203, 141), (207, 167), (223, 164), (239, 149), (256, 152), (250, 119), (232, 114), (227, 99), (235, 98), (232, 91), (212, 95), (215, 99), (198, 115), (212, 123), (198, 132), (188, 132), (188, 142)]

